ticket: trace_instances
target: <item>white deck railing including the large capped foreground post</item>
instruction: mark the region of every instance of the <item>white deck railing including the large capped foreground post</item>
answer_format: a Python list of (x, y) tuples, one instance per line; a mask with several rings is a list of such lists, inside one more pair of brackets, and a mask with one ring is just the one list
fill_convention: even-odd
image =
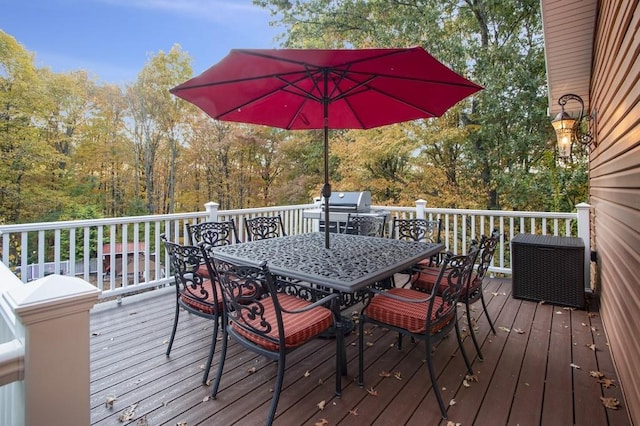
[[(317, 204), (217, 207), (208, 203), (205, 211), (195, 213), (0, 226), (4, 264), (0, 265), (0, 424), (43, 424), (45, 418), (60, 424), (86, 424), (88, 311), (99, 297), (121, 296), (171, 281), (165, 273), (169, 262), (160, 235), (185, 241), (187, 223), (233, 219), (244, 241), (244, 218), (258, 215), (280, 214), (289, 235), (319, 226), (303, 213)], [(509, 241), (518, 233), (579, 236), (585, 243), (585, 288), (589, 288), (587, 204), (578, 205), (577, 213), (427, 208), (422, 200), (414, 207), (373, 209), (386, 210), (391, 218), (440, 219), (442, 241), (454, 253), (464, 253), (472, 239), (497, 229), (501, 244), (490, 268), (496, 274), (511, 273)], [(393, 237), (391, 231), (389, 221), (388, 233)], [(70, 276), (43, 278), (49, 272)], [(52, 335), (65, 338), (50, 339)], [(30, 375), (30, 371), (39, 374)], [(66, 376), (56, 377), (58, 373)], [(69, 376), (76, 379), (75, 391), (58, 392), (56, 388), (68, 383)]]

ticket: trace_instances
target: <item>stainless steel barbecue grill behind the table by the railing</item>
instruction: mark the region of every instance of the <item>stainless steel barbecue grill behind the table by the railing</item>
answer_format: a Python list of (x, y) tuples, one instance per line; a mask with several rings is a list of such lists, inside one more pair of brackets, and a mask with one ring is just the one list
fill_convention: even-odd
[[(319, 230), (324, 231), (324, 198), (320, 200), (317, 209), (305, 210), (303, 217), (319, 220)], [(369, 191), (334, 191), (329, 197), (329, 231), (344, 232), (349, 214), (366, 216), (386, 216), (391, 214), (386, 210), (371, 208), (371, 192)]]

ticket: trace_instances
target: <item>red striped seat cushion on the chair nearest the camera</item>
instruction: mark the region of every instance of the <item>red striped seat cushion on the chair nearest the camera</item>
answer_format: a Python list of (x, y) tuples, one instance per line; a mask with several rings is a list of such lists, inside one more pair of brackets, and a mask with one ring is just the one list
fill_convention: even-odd
[[(278, 293), (278, 301), (283, 309), (294, 311), (302, 309), (305, 306), (309, 306), (311, 303), (306, 300), (300, 299), (295, 296)], [(248, 317), (244, 319), (247, 322), (253, 322), (257, 329), (261, 329), (260, 322), (264, 319), (271, 325), (272, 329), (268, 333), (268, 336), (275, 340), (271, 341), (259, 336), (256, 333), (249, 331), (246, 328), (232, 323), (231, 326), (238, 332), (238, 334), (244, 336), (247, 340), (262, 346), (270, 351), (277, 351), (279, 345), (278, 341), (278, 323), (276, 321), (275, 306), (271, 298), (263, 299), (261, 303), (264, 306), (263, 317), (257, 317), (254, 320), (250, 320)], [(248, 309), (251, 309), (251, 305), (248, 305)], [(318, 306), (307, 312), (301, 312), (298, 314), (290, 314), (282, 312), (282, 322), (285, 330), (285, 347), (287, 349), (300, 346), (307, 340), (317, 336), (329, 327), (333, 325), (333, 314), (327, 308)]]

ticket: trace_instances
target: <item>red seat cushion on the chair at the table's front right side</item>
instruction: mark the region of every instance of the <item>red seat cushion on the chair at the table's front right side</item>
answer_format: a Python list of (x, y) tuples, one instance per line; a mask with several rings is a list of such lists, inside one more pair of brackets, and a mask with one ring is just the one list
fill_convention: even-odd
[[(428, 297), (425, 293), (408, 288), (392, 288), (387, 293), (413, 300), (426, 299)], [(431, 320), (435, 321), (437, 311), (443, 304), (443, 300), (436, 296), (433, 303)], [(385, 297), (384, 295), (375, 295), (369, 306), (367, 306), (365, 314), (375, 321), (400, 327), (411, 333), (425, 334), (428, 304), (429, 301), (405, 302)], [(454, 318), (455, 312), (455, 309), (449, 309), (447, 314), (438, 318), (438, 321), (433, 324), (431, 333), (436, 333), (448, 324)]]

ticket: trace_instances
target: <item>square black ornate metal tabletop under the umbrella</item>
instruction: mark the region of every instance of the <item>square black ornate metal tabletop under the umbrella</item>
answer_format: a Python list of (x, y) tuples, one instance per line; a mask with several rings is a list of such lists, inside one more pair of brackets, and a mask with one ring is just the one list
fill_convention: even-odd
[(438, 253), (442, 244), (320, 232), (251, 241), (214, 248), (222, 260), (259, 265), (274, 274), (353, 293)]

